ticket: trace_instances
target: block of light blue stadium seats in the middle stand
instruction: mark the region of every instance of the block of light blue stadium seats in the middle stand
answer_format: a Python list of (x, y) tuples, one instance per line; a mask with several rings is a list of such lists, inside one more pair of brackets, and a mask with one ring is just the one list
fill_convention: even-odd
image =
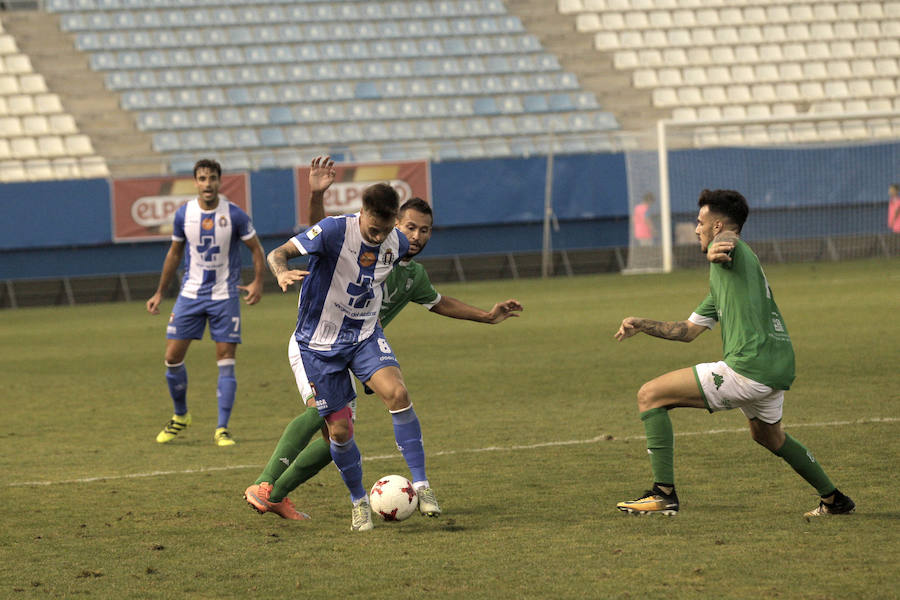
[[(618, 129), (500, 0), (46, 7), (153, 134), (154, 149), (173, 155), (173, 167), (176, 155), (201, 147), (269, 149), (265, 162), (275, 164), (296, 158), (275, 152), (288, 148), (442, 159), (451, 155), (448, 141), (473, 132), (483, 139), (456, 143), (453, 157), (508, 156), (509, 134), (485, 120), (506, 114), (559, 114), (563, 122), (583, 115), (594, 133)], [(214, 125), (197, 118), (203, 111)], [(550, 121), (537, 122), (531, 134), (546, 135)], [(313, 127), (298, 128), (305, 124)]]

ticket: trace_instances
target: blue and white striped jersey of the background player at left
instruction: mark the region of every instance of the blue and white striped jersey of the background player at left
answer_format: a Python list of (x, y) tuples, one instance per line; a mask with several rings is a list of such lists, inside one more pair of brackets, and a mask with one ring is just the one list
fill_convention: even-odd
[(172, 239), (185, 242), (181, 295), (191, 299), (227, 300), (238, 297), (241, 277), (239, 240), (256, 235), (250, 216), (219, 197), (213, 210), (203, 210), (196, 198), (175, 212)]

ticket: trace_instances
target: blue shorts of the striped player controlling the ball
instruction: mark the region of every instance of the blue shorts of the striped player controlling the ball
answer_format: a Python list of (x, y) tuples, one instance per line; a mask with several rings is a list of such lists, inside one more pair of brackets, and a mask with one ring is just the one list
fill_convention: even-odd
[(341, 410), (356, 398), (352, 379), (347, 377), (348, 368), (360, 381), (368, 381), (380, 369), (400, 366), (381, 327), (344, 352), (325, 355), (301, 347), (300, 356), (316, 395), (316, 409), (323, 417)]

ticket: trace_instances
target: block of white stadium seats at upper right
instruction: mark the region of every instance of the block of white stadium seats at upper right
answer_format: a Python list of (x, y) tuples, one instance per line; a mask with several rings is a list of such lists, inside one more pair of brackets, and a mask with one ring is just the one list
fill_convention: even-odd
[[(896, 110), (897, 1), (557, 0), (557, 7), (679, 120)], [(900, 134), (878, 125), (871, 133)], [(798, 135), (837, 139), (839, 131)], [(859, 124), (850, 135), (860, 136)], [(748, 138), (773, 141), (758, 126)]]

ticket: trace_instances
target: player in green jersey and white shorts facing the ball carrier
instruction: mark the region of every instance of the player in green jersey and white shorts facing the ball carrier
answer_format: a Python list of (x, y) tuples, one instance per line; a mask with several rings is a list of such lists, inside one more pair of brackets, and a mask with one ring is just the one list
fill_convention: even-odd
[(753, 440), (784, 459), (821, 496), (819, 506), (805, 513), (807, 518), (850, 513), (853, 501), (831, 483), (812, 453), (781, 427), (784, 392), (794, 380), (794, 350), (759, 259), (740, 238), (749, 214), (747, 201), (733, 190), (703, 190), (697, 204), (695, 233), (711, 263), (709, 294), (686, 321), (628, 317), (615, 337), (621, 341), (643, 332), (690, 342), (718, 321), (724, 358), (671, 371), (641, 386), (637, 401), (653, 489), (636, 500), (619, 502), (617, 508), (637, 514), (678, 513), (669, 410), (683, 406), (709, 412), (740, 408), (749, 419)]

